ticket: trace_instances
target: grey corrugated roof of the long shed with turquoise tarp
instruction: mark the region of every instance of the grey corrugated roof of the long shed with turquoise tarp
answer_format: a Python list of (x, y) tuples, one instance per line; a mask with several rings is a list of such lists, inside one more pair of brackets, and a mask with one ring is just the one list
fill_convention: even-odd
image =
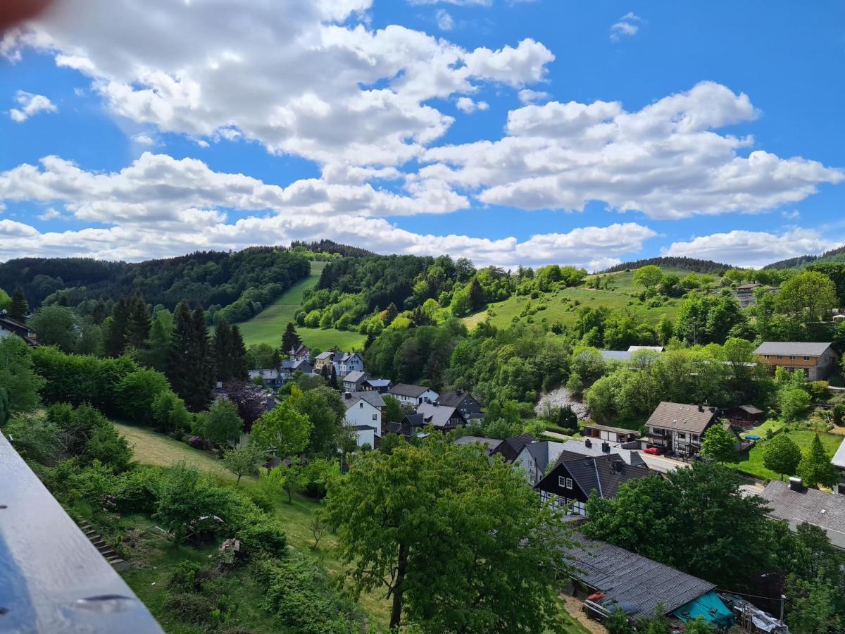
[[(605, 542), (574, 536), (575, 547), (564, 549), (572, 577), (604, 593), (615, 604), (631, 604), (629, 616), (652, 615), (657, 604), (669, 614), (716, 589), (711, 582), (677, 571)], [(613, 608), (609, 608), (613, 611)]]

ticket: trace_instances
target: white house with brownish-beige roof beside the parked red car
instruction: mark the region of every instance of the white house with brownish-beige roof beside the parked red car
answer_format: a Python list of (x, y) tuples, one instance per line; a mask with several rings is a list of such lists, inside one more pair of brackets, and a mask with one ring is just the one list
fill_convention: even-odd
[(646, 421), (648, 444), (663, 453), (696, 456), (701, 451), (701, 436), (717, 420), (715, 407), (664, 401)]

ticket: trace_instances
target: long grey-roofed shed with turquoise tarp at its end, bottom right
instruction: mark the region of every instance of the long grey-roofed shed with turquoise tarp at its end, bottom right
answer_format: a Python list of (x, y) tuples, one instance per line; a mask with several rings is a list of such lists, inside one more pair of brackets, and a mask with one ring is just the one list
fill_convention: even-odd
[(686, 622), (701, 616), (720, 631), (733, 625), (731, 610), (711, 582), (581, 533), (575, 533), (573, 541), (564, 549), (572, 594), (598, 619), (606, 620), (618, 609), (630, 620), (650, 617), (659, 605), (669, 619)]

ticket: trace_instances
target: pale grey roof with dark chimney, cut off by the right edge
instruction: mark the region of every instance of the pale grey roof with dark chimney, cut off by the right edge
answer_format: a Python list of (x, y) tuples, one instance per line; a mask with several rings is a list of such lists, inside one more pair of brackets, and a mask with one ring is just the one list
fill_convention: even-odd
[(831, 544), (845, 548), (845, 495), (816, 489), (793, 491), (788, 483), (772, 480), (760, 497), (768, 500), (770, 517), (786, 520), (793, 528), (802, 522), (814, 524), (826, 531)]

